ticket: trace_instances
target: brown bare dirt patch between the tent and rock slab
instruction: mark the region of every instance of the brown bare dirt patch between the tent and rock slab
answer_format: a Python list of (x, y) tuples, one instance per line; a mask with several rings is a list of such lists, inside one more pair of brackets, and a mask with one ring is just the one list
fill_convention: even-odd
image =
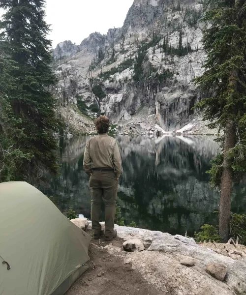
[[(101, 246), (109, 243), (103, 238), (100, 240)], [(116, 238), (111, 243), (122, 247), (123, 240)], [(91, 266), (65, 295), (167, 295), (145, 281), (130, 265), (125, 265), (121, 258), (109, 255), (104, 249), (98, 249), (98, 245), (99, 241), (92, 239), (89, 248), (95, 268)]]

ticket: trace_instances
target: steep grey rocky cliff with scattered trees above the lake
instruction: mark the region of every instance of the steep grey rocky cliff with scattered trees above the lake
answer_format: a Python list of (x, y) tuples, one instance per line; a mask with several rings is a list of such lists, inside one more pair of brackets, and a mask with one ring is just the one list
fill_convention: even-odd
[(80, 45), (58, 44), (62, 105), (79, 101), (86, 112), (96, 105), (113, 123), (144, 106), (165, 131), (182, 128), (196, 119), (192, 108), (202, 97), (192, 82), (206, 58), (202, 16), (195, 0), (134, 0), (123, 28), (92, 33)]

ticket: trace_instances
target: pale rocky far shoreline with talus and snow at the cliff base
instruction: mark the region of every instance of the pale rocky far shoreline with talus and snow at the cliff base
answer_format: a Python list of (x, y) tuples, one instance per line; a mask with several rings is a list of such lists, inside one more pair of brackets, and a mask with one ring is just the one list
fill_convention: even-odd
[[(62, 118), (66, 117), (69, 124), (66, 125), (64, 135), (94, 135), (93, 119), (81, 116), (76, 112), (76, 109), (61, 108)], [(149, 137), (179, 136), (179, 135), (217, 135), (216, 129), (208, 128), (208, 121), (203, 121), (201, 116), (196, 116), (183, 127), (176, 131), (165, 131), (158, 123), (154, 109), (143, 107), (136, 115), (129, 120), (120, 120), (118, 124), (113, 124), (110, 127), (110, 135), (146, 135)]]

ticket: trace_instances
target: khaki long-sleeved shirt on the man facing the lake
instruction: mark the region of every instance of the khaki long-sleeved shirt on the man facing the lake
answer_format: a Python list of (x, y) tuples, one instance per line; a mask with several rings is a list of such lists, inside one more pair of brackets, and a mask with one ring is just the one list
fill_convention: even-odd
[(84, 168), (91, 174), (93, 168), (112, 168), (116, 177), (122, 174), (122, 159), (116, 140), (107, 134), (99, 134), (86, 143)]

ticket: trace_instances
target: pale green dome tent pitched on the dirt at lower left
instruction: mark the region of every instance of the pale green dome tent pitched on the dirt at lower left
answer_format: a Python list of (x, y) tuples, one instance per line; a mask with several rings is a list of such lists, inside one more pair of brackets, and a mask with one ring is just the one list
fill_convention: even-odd
[(0, 295), (63, 295), (88, 269), (90, 241), (35, 187), (0, 183)]

